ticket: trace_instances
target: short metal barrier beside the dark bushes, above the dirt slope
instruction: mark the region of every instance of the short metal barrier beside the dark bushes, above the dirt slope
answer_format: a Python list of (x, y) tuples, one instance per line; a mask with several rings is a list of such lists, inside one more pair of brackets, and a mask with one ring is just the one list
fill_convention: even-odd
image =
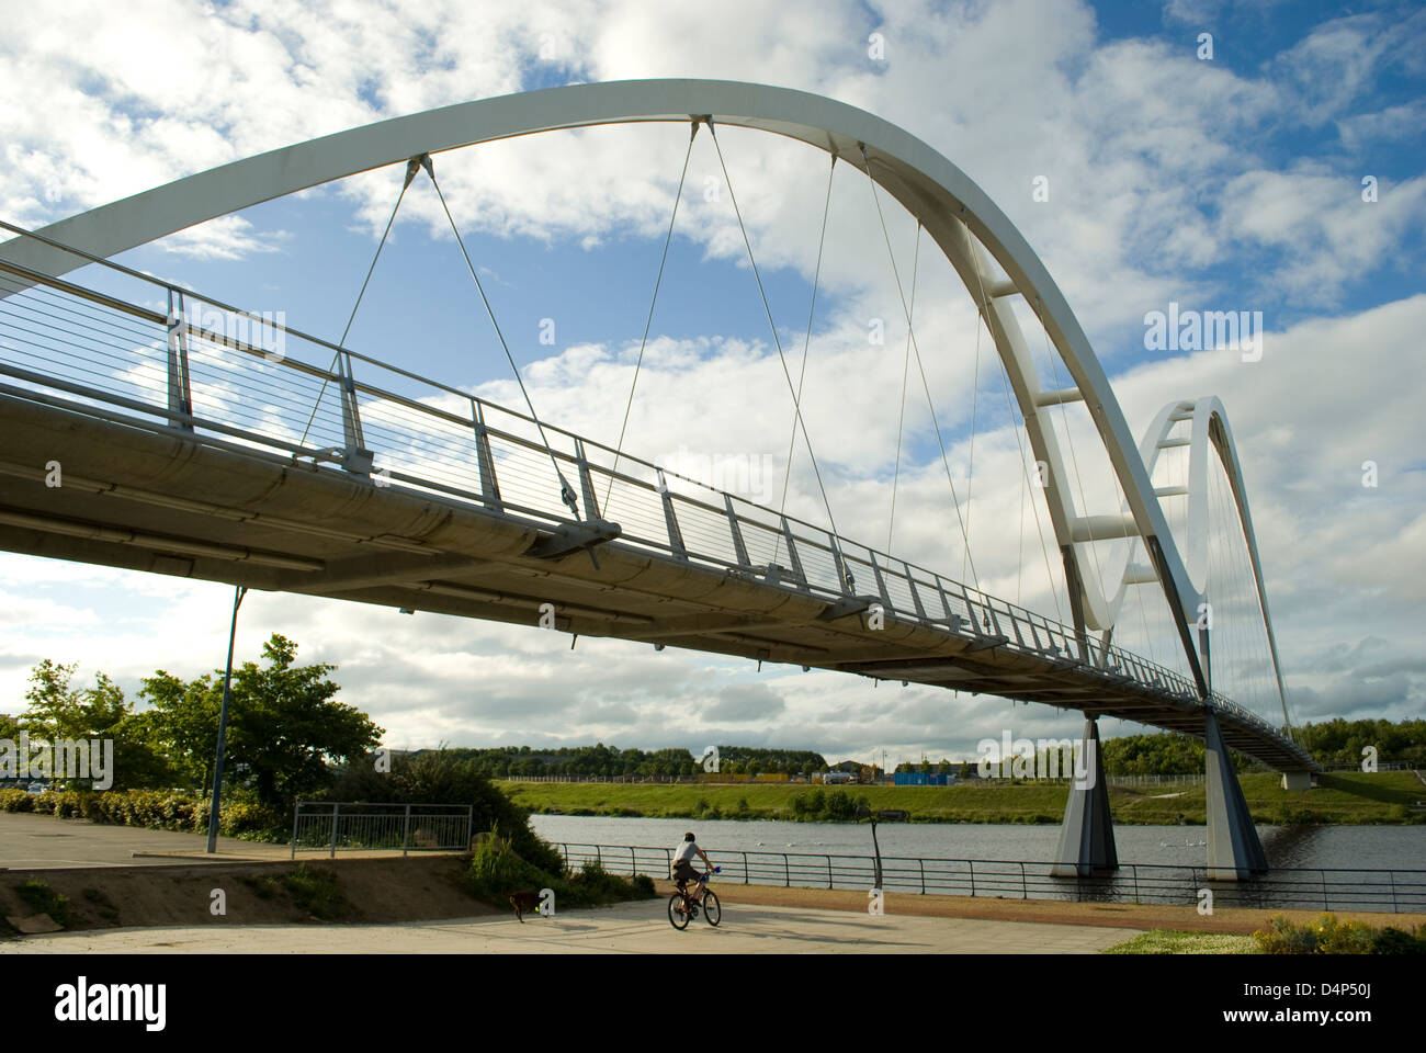
[(471, 805), (371, 805), (298, 800), (292, 858), (298, 852), (463, 852), (471, 848)]

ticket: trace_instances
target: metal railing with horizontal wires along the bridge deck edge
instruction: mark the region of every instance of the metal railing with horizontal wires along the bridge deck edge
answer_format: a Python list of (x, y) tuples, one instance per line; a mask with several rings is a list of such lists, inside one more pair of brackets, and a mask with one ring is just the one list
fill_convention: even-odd
[[(1184, 709), (1204, 703), (1196, 685), (1172, 669), (904, 559), (542, 422), (546, 451), (525, 414), (308, 335), (281, 317), (0, 227), (81, 255), (106, 268), (106, 278), (138, 283), (154, 297), (143, 305), (0, 260), (0, 291), (9, 292), (0, 298), (0, 377), (10, 380), (0, 381), (0, 392), (77, 404), (198, 441), (335, 462), (378, 487), (399, 484), (546, 528), (575, 522), (553, 455), (578, 481), (586, 521), (616, 514), (613, 544), (819, 599), (876, 602), (887, 619), (1134, 683)], [(1221, 695), (1208, 705), (1288, 742)]]

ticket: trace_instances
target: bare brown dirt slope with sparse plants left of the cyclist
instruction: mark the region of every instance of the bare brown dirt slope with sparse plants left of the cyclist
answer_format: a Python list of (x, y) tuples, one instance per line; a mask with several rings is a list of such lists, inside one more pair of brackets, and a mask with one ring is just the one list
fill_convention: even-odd
[[(318, 882), (338, 895), (322, 900), (318, 919), (304, 907), (302, 890), (285, 878), (294, 862), (195, 863), (174, 866), (103, 866), (43, 870), (0, 870), (0, 917), (29, 916), (34, 907), (17, 893), (31, 879), (43, 880), (68, 900), (70, 929), (135, 925), (274, 925), (291, 922), (421, 922), (499, 913), (472, 899), (461, 886), (462, 860), (455, 855), (405, 859), (317, 859), (315, 870), (335, 875)], [(221, 890), (224, 913), (214, 913)]]

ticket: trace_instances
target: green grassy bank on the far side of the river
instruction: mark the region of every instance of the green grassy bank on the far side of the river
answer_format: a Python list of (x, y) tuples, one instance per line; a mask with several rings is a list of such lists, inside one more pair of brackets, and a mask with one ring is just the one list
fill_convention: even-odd
[[(1426, 786), (1412, 772), (1348, 772), (1323, 775), (1310, 790), (1285, 790), (1279, 776), (1242, 776), (1243, 796), (1255, 822), (1387, 823), (1426, 822), (1410, 806), (1426, 799)], [(646, 816), (653, 819), (807, 819), (794, 809), (817, 788), (789, 783), (609, 785), (511, 782), (499, 788), (532, 812), (563, 815)], [(928, 823), (1058, 823), (1068, 786), (1021, 782), (994, 786), (850, 786), (826, 793), (866, 798), (874, 809), (901, 809), (911, 822)], [(1165, 795), (1178, 796), (1165, 796)], [(1109, 806), (1117, 823), (1205, 823), (1204, 786), (1112, 788)]]

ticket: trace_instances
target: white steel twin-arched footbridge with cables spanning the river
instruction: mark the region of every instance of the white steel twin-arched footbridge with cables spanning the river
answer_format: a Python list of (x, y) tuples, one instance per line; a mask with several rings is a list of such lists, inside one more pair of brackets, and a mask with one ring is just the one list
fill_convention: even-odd
[[(211, 415), (205, 419), (194, 407), (187, 344), (205, 340), (224, 342), (214, 341), (212, 332), (193, 325), (185, 317), (184, 295), (194, 300), (197, 294), (168, 287), (170, 302), (177, 295), (180, 305), (175, 327), (173, 312), (168, 318), (151, 311), (153, 317), (145, 317), (134, 304), (103, 302), (103, 298), (96, 300), (61, 277), (91, 260), (104, 261), (194, 224), (425, 154), (563, 128), (690, 120), (786, 136), (860, 167), (921, 224), (944, 253), (991, 334), (1034, 457), (1048, 467), (1044, 497), (1064, 562), (1072, 626), (1057, 626), (991, 596), (973, 595), (965, 586), (911, 568), (904, 561), (897, 569), (898, 561), (890, 554), (863, 549), (861, 555), (854, 555), (851, 542), (819, 532), (809, 524), (789, 522), (787, 517), (771, 509), (739, 512), (734, 498), (726, 494), (702, 494), (699, 499), (689, 499), (700, 507), (699, 515), (717, 518), (726, 512), (730, 558), (700, 554), (694, 544), (684, 542), (680, 531), (680, 511), (686, 517), (692, 514), (692, 509), (679, 505), (686, 495), (672, 494), (656, 465), (643, 465), (656, 484), (652, 487), (647, 479), (619, 477), (617, 461), (610, 468), (607, 455), (615, 454), (626, 462), (633, 458), (568, 432), (559, 432), (558, 457), (580, 479), (583, 517), (572, 518), (563, 509), (550, 514), (536, 508), (535, 499), (520, 504), (509, 495), (502, 498), (499, 467), (511, 461), (501, 455), (498, 447), (501, 442), (525, 442), (528, 447), (529, 441), (516, 424), (501, 431), (489, 422), (501, 412), (498, 407), (445, 385), (435, 387), (468, 402), (468, 412), (459, 414), (458, 425), (466, 428), (478, 452), (478, 479), (469, 488), (452, 488), (398, 471), (392, 479), (409, 484), (426, 497), (414, 497), (405, 485), (378, 485), (374, 489), (369, 478), (374, 462), (361, 422), (364, 412), (369, 417), (371, 402), (364, 407), (361, 397), (364, 392), (368, 400), (395, 395), (394, 391), (372, 387), (369, 380), (358, 381), (355, 370), (358, 365), (368, 372), (391, 367), (307, 338), (314, 345), (337, 351), (335, 371), (302, 367), (304, 380), (332, 382), (342, 395), (341, 442), (334, 444), (334, 454), (324, 457), (319, 449), (301, 444), (294, 447), (289, 441), (235, 428), (231, 422), (218, 424)], [(1175, 401), (1164, 408), (1137, 445), (1084, 330), (1024, 237), (951, 161), (863, 110), (803, 91), (703, 80), (580, 84), (463, 103), (274, 150), (70, 217), (33, 237), (0, 244), (0, 274), (6, 278), (0, 288), (0, 310), (20, 310), (24, 297), (41, 291), (90, 300), (148, 324), (164, 322), (168, 345), (164, 367), (168, 390), (161, 407), (145, 405), (144, 398), (116, 402), (111, 392), (108, 410), (87, 412), (77, 408), (76, 397), (93, 402), (91, 390), (66, 384), (63, 378), (56, 382), (53, 370), (39, 367), (33, 360), (0, 362), (0, 374), (19, 381), (0, 387), (6, 411), (0, 427), (7, 432), (6, 448), (26, 449), (33, 457), (41, 457), (44, 449), (67, 449), (71, 457), (66, 464), (96, 465), (93, 478), (80, 477), (91, 485), (91, 499), (74, 498), (73, 507), (57, 508), (63, 504), (56, 499), (58, 491), (50, 495), (34, 492), (33, 457), (6, 457), (6, 467), (0, 468), (4, 472), (0, 475), (0, 546), (369, 602), (408, 605), (404, 599), (419, 592), (426, 609), (526, 624), (530, 621), (530, 596), (528, 591), (511, 588), (509, 582), (528, 582), (530, 566), (540, 566), (538, 574), (545, 574), (543, 568), (556, 562), (565, 578), (575, 582), (569, 585), (569, 596), (565, 596), (568, 602), (560, 605), (560, 628), (573, 632), (657, 639), (660, 646), (670, 642), (1078, 708), (1088, 718), (1087, 739), (1097, 736), (1094, 719), (1099, 713), (1186, 731), (1202, 735), (1208, 742), (1211, 776), (1216, 765), (1216, 780), (1209, 779), (1209, 816), (1218, 833), (1209, 838), (1209, 863), (1222, 876), (1245, 876), (1265, 869), (1225, 748), (1239, 749), (1283, 772), (1315, 770), (1310, 756), (1292, 742), (1286, 728), (1275, 728), (1212, 691), (1209, 634), (1201, 618), (1208, 602), (1204, 552), (1211, 454), (1216, 455), (1232, 488), (1286, 718), (1258, 544), (1224, 407), (1216, 398)], [(1072, 380), (1071, 387), (1045, 390), (1041, 385), (1015, 317), (1017, 301), (1028, 305), (1044, 327), (1054, 354)], [(295, 330), (291, 332), (304, 337)], [(227, 342), (230, 350), (254, 358), (252, 347)], [(272, 364), (254, 360), (254, 365), (265, 368)], [(287, 367), (295, 368), (295, 364)], [(394, 372), (412, 377), (401, 370)], [(37, 388), (51, 394), (39, 397)], [(1107, 508), (1097, 514), (1077, 511), (1067, 482), (1071, 472), (1048, 419), (1051, 408), (1067, 402), (1084, 402), (1124, 494), (1125, 508)], [(147, 412), (157, 421), (135, 429), (135, 412), (140, 417)], [(1172, 536), (1161, 507), (1161, 498), (1169, 494), (1156, 491), (1151, 482), (1159, 452), (1185, 444), (1184, 439), (1169, 438), (1169, 431), (1179, 421), (1191, 421), (1192, 427), (1186, 442), (1191, 447), (1189, 484), (1174, 492), (1174, 497), (1188, 501), (1185, 546)], [(451, 421), (441, 427), (448, 424)], [(550, 425), (546, 422), (546, 427)], [(26, 441), (26, 435), (43, 439)], [(241, 442), (235, 444), (235, 438)], [(267, 447), (270, 455), (264, 459), (254, 447)], [(291, 462), (274, 458), (272, 449), (289, 454)], [(550, 452), (556, 452), (553, 447)], [(294, 471), (299, 457), (311, 457), (311, 471)], [(318, 468), (322, 459), (339, 461), (344, 471)], [(242, 499), (235, 501), (231, 494), (220, 499), (217, 489), (200, 482), (202, 472), (224, 472), (230, 482), (250, 481), (251, 494), (240, 487)], [(643, 485), (649, 501), (656, 501), (650, 507), (663, 519), (666, 538), (633, 541), (633, 531), (600, 519), (595, 475), (607, 477), (610, 485), (615, 481), (627, 488)], [(116, 501), (114, 494), (131, 495), (135, 508), (167, 508), (168, 519), (141, 512), (127, 518), (114, 514), (124, 504)], [(140, 494), (147, 497), (134, 497)], [(284, 504), (275, 497), (278, 494), (292, 499)], [(421, 536), (416, 536), (419, 531), (412, 534), (414, 519), (432, 515), (429, 505), (434, 499), (445, 501), (452, 495), (469, 497), (476, 507), (461, 509), (459, 515), (451, 512), (451, 518), (483, 517), (488, 521), (476, 531), (483, 538), (481, 552), (462, 551), (451, 538), (439, 539), (431, 532)], [(245, 511), (234, 508), (244, 501)], [(304, 517), (321, 522), (329, 534), (342, 534), (345, 528), (334, 524), (331, 517), (315, 512), (324, 501), (351, 509), (348, 528), (366, 518), (359, 528), (347, 529), (348, 536), (368, 541), (406, 536), (408, 544), (405, 548), (395, 544), (392, 551), (379, 555), (369, 555), (374, 551), (371, 544), (365, 548), (359, 544), (348, 548), (338, 545), (337, 558), (332, 558), (331, 545), (304, 549), (299, 544), (287, 544), (301, 534), (291, 522)], [(401, 502), (408, 507), (398, 515)], [(378, 507), (385, 509), (379, 515)], [(426, 511), (422, 512), (422, 508)], [(392, 525), (384, 519), (388, 512), (395, 517), (392, 522), (405, 524), (405, 532), (376, 529), (378, 525)], [(193, 524), (175, 526), (175, 514), (197, 518)], [(210, 531), (198, 524), (202, 517), (235, 526), (227, 534)], [(161, 522), (167, 522), (168, 529), (153, 529)], [(277, 522), (288, 524), (285, 541), (277, 539), (275, 534), (264, 534)], [(779, 545), (786, 544), (791, 566), (754, 562), (749, 552), (757, 545), (746, 535), (759, 531), (774, 536)], [(244, 538), (262, 541), (262, 551), (251, 544), (237, 544)], [(1111, 596), (1094, 575), (1085, 572), (1084, 552), (1095, 542), (1115, 538), (1132, 539), (1131, 552), (1141, 551), (1145, 562), (1127, 556), (1119, 588)], [(625, 548), (639, 555), (629, 555)], [(135, 549), (145, 555), (134, 556)], [(238, 549), (248, 555), (234, 555)], [(597, 552), (596, 561), (580, 559), (585, 551)], [(501, 588), (476, 588), (469, 579), (459, 581), (461, 574), (472, 568), (473, 559), (505, 568), (501, 572), (485, 569), (486, 578), (493, 575)], [(635, 582), (639, 576), (635, 571), (640, 565), (645, 566), (640, 574), (650, 581), (659, 576), (656, 569), (660, 574), (667, 569), (655, 568), (650, 559), (660, 564), (672, 561), (677, 572), (665, 574), (667, 581), (647, 589), (643, 589), (647, 582), (630, 584), (627, 609), (588, 602), (590, 579), (602, 575), (607, 589), (610, 575), (619, 579), (620, 562), (626, 564), (623, 582)], [(694, 575), (692, 566), (700, 559), (722, 564), (722, 568)], [(823, 579), (809, 566), (819, 559), (829, 566)], [(589, 569), (590, 562), (597, 565)], [(175, 569), (183, 565), (185, 571)], [(586, 569), (572, 571), (576, 565)], [(876, 594), (856, 591), (854, 565), (864, 572), (863, 582), (876, 582)], [(700, 569), (707, 571), (706, 566)], [(700, 581), (702, 576), (709, 581)], [(1138, 584), (1155, 584), (1174, 612), (1191, 673), (1188, 681), (1165, 669), (1149, 669), (1148, 663), (1112, 646), (1112, 632), (1127, 591)], [(640, 589), (657, 592), (665, 599), (707, 599), (717, 588), (729, 591), (734, 586), (749, 595), (722, 605), (700, 606), (693, 602), (687, 609), (665, 618), (642, 614), (639, 605), (632, 602)], [(753, 595), (761, 592), (767, 595)], [(877, 644), (871, 644), (864, 615), (877, 604), (891, 615), (898, 632), (891, 636), (881, 634)], [(512, 606), (519, 612), (512, 612)], [(934, 609), (937, 606), (941, 612)], [(848, 636), (846, 626), (850, 624), (860, 631)], [(1098, 641), (1091, 638), (1091, 631), (1099, 634)], [(826, 635), (830, 632), (840, 632), (841, 636), (838, 644), (827, 646)], [(1107, 830), (1108, 799), (1104, 796), (1104, 780), (1098, 783), (1097, 790), (1077, 789), (1067, 810), (1061, 862), (1079, 872), (1114, 866), (1112, 836)], [(1102, 842), (1107, 838), (1105, 852)]]

